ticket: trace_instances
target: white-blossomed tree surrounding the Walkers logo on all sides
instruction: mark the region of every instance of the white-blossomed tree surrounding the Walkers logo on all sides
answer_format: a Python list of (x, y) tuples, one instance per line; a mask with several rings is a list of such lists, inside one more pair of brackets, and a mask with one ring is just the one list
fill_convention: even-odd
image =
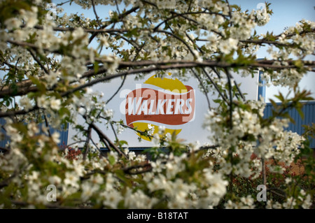
[[(250, 78), (259, 69), (267, 85), (295, 86), (314, 69), (304, 60), (314, 54), (314, 22), (256, 35), (255, 27), (272, 19), (269, 4), (242, 11), (217, 0), (71, 1), (93, 10), (90, 18), (64, 12), (65, 3), (52, 19), (45, 1), (0, 2), (1, 129), (10, 138), (0, 148), (0, 207), (255, 208), (253, 194), (235, 197), (233, 178), (257, 179), (265, 160), (288, 166), (307, 148), (306, 138), (283, 130), (288, 119), (264, 119), (265, 103), (246, 100), (230, 71)], [(99, 16), (101, 5), (114, 7)], [(258, 61), (262, 45), (269, 58)], [(150, 71), (195, 77), (207, 97), (218, 96), (204, 117), (207, 145), (186, 145), (151, 124), (133, 129), (151, 138), (151, 158), (118, 140), (126, 125), (113, 120), (112, 95), (93, 86)], [(307, 97), (296, 97), (293, 106), (300, 108)], [(100, 123), (115, 138), (99, 131)], [(71, 160), (51, 129), (67, 125), (80, 132), (72, 140), (82, 152)], [(277, 164), (269, 170), (283, 173)], [(48, 185), (56, 187), (55, 205)], [(269, 199), (265, 208), (311, 206), (311, 192), (287, 186), (286, 199)]]

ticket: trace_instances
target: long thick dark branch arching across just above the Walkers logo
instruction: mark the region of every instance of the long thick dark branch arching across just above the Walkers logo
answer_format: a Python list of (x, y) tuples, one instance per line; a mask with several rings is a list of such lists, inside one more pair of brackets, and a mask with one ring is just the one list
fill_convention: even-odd
[[(103, 63), (112, 63), (112, 61), (106, 60), (106, 59), (96, 59), (98, 62)], [(84, 87), (89, 87), (97, 82), (102, 82), (104, 80), (111, 80), (113, 78), (118, 78), (123, 75), (131, 75), (135, 73), (149, 73), (151, 71), (159, 71), (159, 70), (167, 70), (167, 69), (192, 69), (195, 67), (201, 67), (204, 69), (204, 67), (218, 67), (218, 68), (233, 68), (233, 67), (239, 67), (244, 69), (257, 69), (257, 68), (264, 68), (264, 69), (295, 69), (297, 66), (295, 66), (295, 61), (290, 60), (288, 61), (288, 65), (274, 65), (275, 60), (260, 60), (257, 62), (254, 62), (253, 64), (240, 64), (240, 63), (228, 63), (228, 62), (217, 62), (217, 61), (211, 61), (211, 60), (204, 60), (202, 62), (200, 61), (188, 61), (188, 60), (169, 60), (169, 61), (151, 61), (151, 60), (144, 60), (144, 61), (135, 61), (135, 62), (118, 62), (118, 70), (119, 69), (125, 69), (130, 68), (130, 71), (125, 71), (121, 73), (116, 73), (113, 75), (108, 75), (103, 78), (97, 78), (92, 80), (91, 82), (87, 82), (84, 85), (80, 85), (79, 87), (76, 87), (74, 89), (69, 90), (68, 92), (62, 93), (62, 96), (69, 95), (73, 92), (76, 92), (78, 89), (83, 89)], [(315, 62), (309, 62), (304, 61), (304, 66), (313, 68), (315, 67)], [(132, 69), (137, 67), (143, 67), (140, 69)], [(90, 71), (86, 71), (83, 73), (82, 78), (90, 78), (94, 75), (106, 73), (107, 69), (104, 66), (101, 66), (97, 72), (94, 71), (94, 69)], [(206, 72), (207, 75), (207, 72)], [(211, 79), (209, 79), (211, 80)], [(213, 82), (213, 81), (212, 81)], [(23, 80), (21, 84), (17, 83), (18, 89), (10, 89), (10, 86), (3, 87), (3, 89), (0, 91), (0, 98), (3, 98), (4, 96), (21, 96), (24, 94), (27, 94), (29, 92), (36, 92), (38, 90), (37, 87), (29, 87), (32, 83), (30, 80)], [(50, 89), (53, 90), (54, 88)], [(217, 89), (218, 90), (218, 89)], [(25, 112), (18, 112), (18, 114), (24, 114)], [(8, 115), (6, 115), (8, 116)], [(0, 117), (4, 117), (3, 115)]]

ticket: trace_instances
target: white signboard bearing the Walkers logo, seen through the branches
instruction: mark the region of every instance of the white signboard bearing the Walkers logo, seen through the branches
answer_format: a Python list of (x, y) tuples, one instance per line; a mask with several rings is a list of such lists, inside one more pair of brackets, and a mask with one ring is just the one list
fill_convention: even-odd
[[(246, 99), (257, 99), (258, 95), (258, 73), (254, 78), (241, 78), (234, 75), (235, 80), (241, 83), (241, 91), (246, 93)], [(111, 82), (100, 83), (92, 87), (94, 92), (104, 92), (104, 101), (115, 94), (121, 85), (120, 78)], [(198, 87), (196, 78), (188, 81), (172, 77), (172, 74), (158, 77), (155, 73), (145, 76), (144, 79), (135, 81), (134, 76), (127, 76), (123, 87), (118, 94), (106, 105), (113, 109), (113, 120), (123, 120), (124, 124), (137, 128), (139, 131), (154, 127), (153, 134), (158, 133), (159, 127), (165, 127), (165, 133), (176, 134), (177, 138), (185, 140), (186, 143), (209, 143), (208, 137), (211, 133), (202, 127), (204, 115), (207, 113), (208, 104), (206, 96)], [(211, 106), (216, 104), (212, 99), (218, 95), (209, 94)], [(84, 123), (78, 117), (78, 123)], [(99, 129), (110, 138), (115, 138), (113, 130), (105, 123), (97, 123)], [(114, 126), (115, 127), (115, 126)], [(127, 141), (130, 148), (151, 147), (153, 144), (149, 138), (140, 136), (137, 131), (125, 129), (118, 134), (120, 141)], [(77, 136), (75, 129), (69, 127), (68, 144), (74, 143), (72, 137)], [(141, 137), (141, 141), (139, 141)], [(93, 141), (99, 141), (96, 134), (92, 134)], [(79, 146), (83, 146), (79, 144)]]

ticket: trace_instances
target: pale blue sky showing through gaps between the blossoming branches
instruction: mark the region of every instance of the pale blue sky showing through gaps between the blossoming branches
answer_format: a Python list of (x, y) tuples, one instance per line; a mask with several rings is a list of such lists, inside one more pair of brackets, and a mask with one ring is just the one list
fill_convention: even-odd
[[(53, 1), (58, 2), (58, 1)], [(265, 3), (262, 0), (230, 0), (230, 4), (237, 4), (241, 6), (242, 10), (253, 10), (258, 9), (260, 6)], [(314, 0), (273, 0), (267, 1), (271, 3), (270, 8), (273, 11), (273, 15), (270, 18), (270, 21), (263, 27), (256, 27), (256, 31), (258, 34), (265, 34), (267, 31), (273, 32), (274, 34), (281, 34), (286, 27), (295, 26), (297, 22), (300, 20), (310, 20), (315, 21), (315, 1)], [(115, 7), (116, 8), (116, 7)], [(108, 6), (97, 6), (97, 13), (99, 17), (106, 17), (106, 14), (109, 12), (109, 9), (113, 9), (113, 7)], [(123, 8), (120, 8), (122, 10)], [(64, 12), (68, 15), (70, 13), (84, 13), (85, 17), (90, 17), (94, 19), (94, 13), (92, 9), (90, 10), (82, 10), (80, 6), (76, 4), (72, 4), (71, 6), (64, 6)], [(257, 57), (264, 58), (268, 57), (266, 48), (262, 48), (258, 51)], [(314, 56), (307, 57), (307, 59), (315, 60)], [(300, 81), (300, 88), (307, 89), (313, 92), (312, 96), (315, 98), (315, 73), (310, 72), (302, 78)], [(274, 94), (281, 92), (283, 94), (288, 94), (291, 92), (288, 87), (267, 87), (265, 101), (269, 102), (269, 99), (274, 99), (274, 101), (279, 101), (274, 97)]]

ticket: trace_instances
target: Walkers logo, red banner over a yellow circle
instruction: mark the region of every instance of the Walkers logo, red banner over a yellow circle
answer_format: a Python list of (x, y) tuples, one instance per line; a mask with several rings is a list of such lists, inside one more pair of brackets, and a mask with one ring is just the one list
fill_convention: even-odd
[[(169, 75), (171, 75), (169, 73)], [(143, 85), (129, 91), (120, 110), (125, 106), (125, 119), (128, 126), (140, 131), (154, 127), (158, 133), (160, 125), (165, 126), (165, 133), (179, 134), (183, 124), (195, 118), (195, 90), (183, 85), (177, 78), (158, 78), (151, 76)], [(140, 134), (138, 134), (140, 136)], [(149, 141), (146, 136), (141, 136)]]

